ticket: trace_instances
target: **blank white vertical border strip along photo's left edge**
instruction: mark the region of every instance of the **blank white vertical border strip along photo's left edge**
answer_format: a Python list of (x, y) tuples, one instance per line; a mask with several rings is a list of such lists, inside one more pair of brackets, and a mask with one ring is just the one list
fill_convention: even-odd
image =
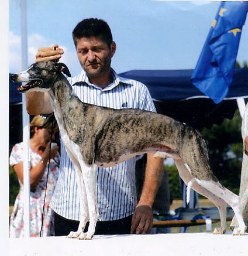
[(0, 1), (0, 241), (1, 254), (8, 255), (9, 227), (9, 0)]

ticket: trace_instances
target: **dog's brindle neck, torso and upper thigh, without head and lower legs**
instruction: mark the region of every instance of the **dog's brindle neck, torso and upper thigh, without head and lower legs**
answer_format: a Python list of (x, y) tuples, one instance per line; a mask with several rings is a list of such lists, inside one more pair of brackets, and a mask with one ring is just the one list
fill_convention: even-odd
[[(139, 153), (161, 151), (170, 156), (180, 155), (187, 161), (192, 175), (198, 177), (198, 167), (202, 166), (199, 161), (204, 161), (202, 156), (208, 158), (201, 135), (170, 117), (82, 103), (63, 75), (54, 83), (50, 95), (67, 151), (74, 149), (88, 165), (96, 163), (105, 168)], [(204, 166), (208, 165), (204, 163)], [(210, 168), (204, 177), (201, 173), (201, 179), (216, 180)]]

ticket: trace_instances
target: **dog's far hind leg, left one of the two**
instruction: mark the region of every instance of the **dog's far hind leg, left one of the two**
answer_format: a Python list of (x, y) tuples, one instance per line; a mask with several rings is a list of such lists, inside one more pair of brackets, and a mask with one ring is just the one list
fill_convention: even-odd
[(192, 189), (194, 189), (199, 194), (202, 194), (202, 196), (205, 196), (211, 202), (213, 202), (216, 207), (219, 210), (219, 215), (221, 218), (221, 227), (215, 228), (213, 231), (213, 234), (224, 234), (226, 232), (226, 202), (225, 200), (221, 199), (221, 197), (216, 196), (212, 192), (210, 192), (208, 189), (205, 189), (205, 187), (202, 187), (198, 184), (197, 180), (193, 178), (193, 176), (190, 173), (190, 170), (185, 166), (182, 159), (174, 160), (175, 166), (177, 166), (178, 172), (182, 180), (184, 180), (185, 184), (188, 185), (188, 183), (191, 183)]

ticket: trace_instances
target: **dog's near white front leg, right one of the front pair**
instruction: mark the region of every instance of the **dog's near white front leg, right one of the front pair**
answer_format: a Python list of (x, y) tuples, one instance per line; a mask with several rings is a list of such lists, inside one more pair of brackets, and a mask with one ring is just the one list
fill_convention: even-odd
[(82, 177), (84, 179), (85, 190), (88, 201), (89, 228), (86, 236), (81, 234), (80, 239), (91, 239), (95, 233), (99, 214), (97, 206), (97, 165), (85, 165), (81, 162)]

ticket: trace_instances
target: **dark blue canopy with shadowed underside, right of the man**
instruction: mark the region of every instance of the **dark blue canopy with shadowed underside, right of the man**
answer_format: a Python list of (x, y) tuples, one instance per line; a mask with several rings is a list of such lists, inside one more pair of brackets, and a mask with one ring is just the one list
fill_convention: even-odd
[(236, 69), (225, 100), (213, 103), (190, 80), (192, 70), (132, 70), (120, 74), (138, 80), (149, 88), (157, 112), (195, 128), (221, 124), (237, 110), (236, 99), (248, 98), (248, 69)]

